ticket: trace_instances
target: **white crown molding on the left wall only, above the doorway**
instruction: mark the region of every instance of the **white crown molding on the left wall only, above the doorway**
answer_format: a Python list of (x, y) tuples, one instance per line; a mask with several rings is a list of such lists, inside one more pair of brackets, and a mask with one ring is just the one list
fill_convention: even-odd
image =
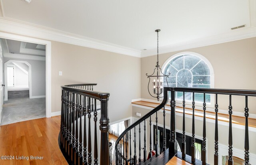
[(59, 41), (83, 47), (120, 53), (123, 55), (130, 55), (133, 57), (140, 57), (141, 54), (140, 50), (131, 49), (128, 47), (123, 47), (120, 45), (84, 37), (81, 35), (67, 33), (56, 29), (38, 26), (35, 24), (28, 24), (27, 22), (21, 22), (6, 17), (0, 18), (0, 25), (0, 31), (16, 33), (18, 35), (26, 35), (29, 37)]

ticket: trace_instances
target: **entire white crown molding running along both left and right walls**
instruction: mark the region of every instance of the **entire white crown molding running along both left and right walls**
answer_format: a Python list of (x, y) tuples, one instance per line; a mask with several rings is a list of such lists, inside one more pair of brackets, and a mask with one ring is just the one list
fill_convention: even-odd
[[(56, 29), (51, 29), (35, 24), (28, 24), (19, 20), (13, 20), (10, 18), (0, 18), (0, 31), (6, 31), (9, 33), (16, 33), (18, 35), (27, 35), (29, 37), (48, 39), (52, 41), (59, 41), (63, 43), (69, 43), (73, 45), (79, 45), (83, 47), (90, 47), (94, 49), (100, 49), (104, 51), (110, 51), (114, 53), (120, 53), (123, 55), (130, 55), (133, 57), (148, 57), (156, 55), (156, 49), (148, 49), (146, 51), (140, 51), (115, 45), (112, 43), (99, 41), (96, 39), (83, 37), (81, 35), (75, 35)], [(248, 27), (242, 29), (236, 29), (228, 31), (226, 33), (185, 41), (182, 43), (176, 43), (172, 45), (166, 45), (159, 47), (159, 54), (170, 53), (174, 51), (181, 51), (186, 49), (192, 49), (196, 47), (203, 47), (208, 45), (214, 45), (218, 43), (225, 43), (230, 41), (236, 41), (240, 39), (246, 39), (256, 37), (256, 27)]]

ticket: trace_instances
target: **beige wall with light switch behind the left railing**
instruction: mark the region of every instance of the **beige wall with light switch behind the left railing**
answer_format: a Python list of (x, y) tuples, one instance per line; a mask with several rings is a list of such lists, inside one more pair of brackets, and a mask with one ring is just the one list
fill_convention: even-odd
[(140, 98), (140, 58), (56, 41), (51, 46), (52, 112), (60, 111), (61, 85), (97, 83), (94, 90), (110, 93), (110, 122), (132, 116), (131, 100)]

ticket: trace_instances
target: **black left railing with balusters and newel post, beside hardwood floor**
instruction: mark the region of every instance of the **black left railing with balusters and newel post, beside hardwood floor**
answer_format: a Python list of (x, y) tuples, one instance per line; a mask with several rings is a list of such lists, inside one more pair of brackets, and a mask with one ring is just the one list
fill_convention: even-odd
[[(59, 144), (69, 164), (91, 165), (94, 161), (93, 164), (97, 165), (98, 159), (100, 159), (100, 165), (110, 164), (108, 143), (108, 98), (110, 94), (93, 91), (95, 85), (61, 86), (62, 106)], [(97, 108), (99, 106), (97, 100), (100, 102), (100, 108)], [(97, 110), (99, 109), (101, 117), (98, 121)], [(100, 129), (99, 147), (98, 129)], [(92, 141), (94, 141), (93, 144)], [(98, 148), (100, 150), (99, 158)], [(94, 150), (93, 153), (92, 150)]]

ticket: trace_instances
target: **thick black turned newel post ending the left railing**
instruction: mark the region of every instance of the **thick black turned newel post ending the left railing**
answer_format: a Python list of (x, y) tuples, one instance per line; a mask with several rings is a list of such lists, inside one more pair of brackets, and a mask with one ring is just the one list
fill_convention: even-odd
[(100, 165), (109, 165), (109, 143), (108, 143), (108, 98), (109, 93), (100, 94)]

